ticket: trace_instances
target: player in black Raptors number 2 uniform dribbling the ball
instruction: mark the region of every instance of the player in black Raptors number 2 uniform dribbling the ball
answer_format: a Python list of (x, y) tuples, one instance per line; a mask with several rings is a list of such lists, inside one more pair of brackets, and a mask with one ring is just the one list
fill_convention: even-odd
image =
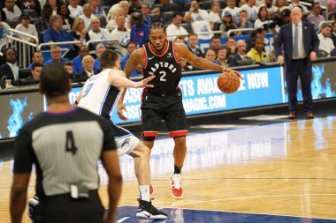
[[(156, 75), (149, 83), (153, 88), (143, 89), (141, 96), (141, 132), (143, 143), (153, 148), (162, 120), (166, 123), (169, 135), (174, 139), (174, 173), (171, 175), (172, 197), (181, 198), (181, 168), (183, 166), (187, 146), (187, 120), (182, 104), (182, 95), (179, 89), (181, 67), (179, 61), (185, 58), (193, 66), (211, 70), (227, 71), (216, 63), (212, 63), (201, 57), (195, 56), (183, 43), (167, 41), (167, 33), (164, 24), (153, 23), (149, 30), (149, 43), (142, 48), (134, 50), (126, 63), (124, 71), (127, 78), (131, 76), (138, 64), (142, 65), (143, 78)], [(126, 110), (123, 104), (126, 90), (118, 100), (118, 115), (122, 120), (126, 116), (122, 110)]]

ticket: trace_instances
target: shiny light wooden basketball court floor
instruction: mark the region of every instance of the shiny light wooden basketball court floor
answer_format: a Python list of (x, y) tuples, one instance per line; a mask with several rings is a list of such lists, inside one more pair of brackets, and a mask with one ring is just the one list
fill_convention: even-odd
[[(150, 160), (153, 203), (176, 209), (336, 219), (335, 136), (336, 116), (192, 133), (183, 167), (184, 197), (179, 200), (171, 196), (168, 183), (172, 139), (157, 140)], [(120, 163), (125, 182), (119, 205), (136, 206), (133, 160), (125, 156)], [(0, 163), (1, 223), (10, 222), (11, 164), (11, 160)], [(101, 168), (100, 174), (106, 205)], [(29, 190), (29, 196), (34, 195), (34, 180)], [(26, 215), (24, 222), (30, 222)]]

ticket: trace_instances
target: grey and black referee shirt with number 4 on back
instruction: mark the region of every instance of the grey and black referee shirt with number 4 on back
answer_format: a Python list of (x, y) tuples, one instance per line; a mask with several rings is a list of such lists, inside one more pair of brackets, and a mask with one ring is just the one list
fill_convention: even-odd
[(86, 109), (43, 112), (19, 131), (13, 172), (30, 173), (34, 164), (40, 198), (70, 193), (72, 184), (96, 190), (97, 161), (116, 148), (111, 127)]

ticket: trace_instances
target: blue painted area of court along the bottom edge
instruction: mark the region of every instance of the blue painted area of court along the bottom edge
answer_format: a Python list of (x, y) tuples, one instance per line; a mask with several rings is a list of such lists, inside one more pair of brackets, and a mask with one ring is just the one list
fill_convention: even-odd
[[(241, 212), (217, 212), (190, 209), (164, 208), (162, 211), (168, 214), (168, 219), (164, 220), (142, 220), (135, 217), (137, 207), (122, 206), (118, 208), (117, 222), (125, 223), (215, 223), (215, 222), (248, 222), (248, 223), (336, 223), (332, 219), (310, 219), (301, 217), (289, 217), (268, 214), (253, 214)], [(126, 219), (126, 217), (129, 217)]]

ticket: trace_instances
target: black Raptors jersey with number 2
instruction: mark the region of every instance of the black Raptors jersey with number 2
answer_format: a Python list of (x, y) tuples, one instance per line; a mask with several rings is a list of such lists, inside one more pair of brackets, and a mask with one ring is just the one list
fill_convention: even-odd
[(176, 58), (175, 43), (166, 41), (168, 47), (164, 53), (157, 55), (150, 46), (150, 42), (143, 45), (145, 63), (143, 64), (143, 78), (156, 75), (149, 82), (154, 88), (148, 88), (150, 93), (171, 93), (176, 90), (181, 78), (181, 66)]

